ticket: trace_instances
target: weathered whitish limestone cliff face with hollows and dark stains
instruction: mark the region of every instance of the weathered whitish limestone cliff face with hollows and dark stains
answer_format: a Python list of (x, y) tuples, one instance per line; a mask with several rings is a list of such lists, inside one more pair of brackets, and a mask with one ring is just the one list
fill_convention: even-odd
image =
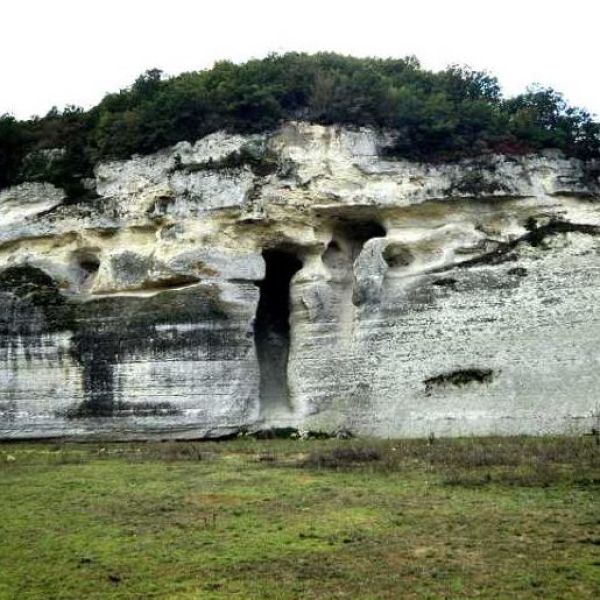
[(290, 123), (0, 192), (0, 437), (581, 433), (600, 182)]

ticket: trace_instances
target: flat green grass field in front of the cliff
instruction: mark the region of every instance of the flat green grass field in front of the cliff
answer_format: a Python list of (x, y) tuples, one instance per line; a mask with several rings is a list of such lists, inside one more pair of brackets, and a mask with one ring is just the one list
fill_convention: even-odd
[(598, 598), (581, 438), (0, 445), (1, 599)]

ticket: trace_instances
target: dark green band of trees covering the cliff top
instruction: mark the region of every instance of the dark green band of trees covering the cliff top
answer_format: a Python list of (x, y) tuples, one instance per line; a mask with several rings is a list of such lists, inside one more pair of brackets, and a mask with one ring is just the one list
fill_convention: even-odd
[[(440, 72), (417, 59), (289, 53), (164, 79), (158, 70), (90, 110), (0, 117), (0, 187), (49, 181), (71, 197), (102, 159), (148, 154), (217, 130), (259, 132), (289, 119), (395, 131), (391, 154), (457, 160), (557, 148), (600, 157), (600, 123), (560, 93), (532, 87), (505, 99), (498, 80), (467, 67)], [(62, 149), (44, 152), (48, 149)]]

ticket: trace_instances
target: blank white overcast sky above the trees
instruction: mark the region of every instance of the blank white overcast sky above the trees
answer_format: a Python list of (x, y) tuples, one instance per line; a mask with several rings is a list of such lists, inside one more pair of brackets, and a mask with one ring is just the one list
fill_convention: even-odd
[(0, 114), (90, 107), (146, 69), (269, 52), (416, 55), (532, 82), (600, 114), (597, 0), (2, 0)]

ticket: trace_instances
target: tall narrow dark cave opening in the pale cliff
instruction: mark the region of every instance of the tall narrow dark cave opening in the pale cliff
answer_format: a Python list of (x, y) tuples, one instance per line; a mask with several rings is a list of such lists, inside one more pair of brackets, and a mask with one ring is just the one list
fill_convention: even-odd
[(260, 369), (260, 413), (272, 416), (291, 410), (287, 365), (290, 350), (290, 282), (302, 261), (283, 250), (265, 250), (265, 278), (254, 321), (254, 341)]

